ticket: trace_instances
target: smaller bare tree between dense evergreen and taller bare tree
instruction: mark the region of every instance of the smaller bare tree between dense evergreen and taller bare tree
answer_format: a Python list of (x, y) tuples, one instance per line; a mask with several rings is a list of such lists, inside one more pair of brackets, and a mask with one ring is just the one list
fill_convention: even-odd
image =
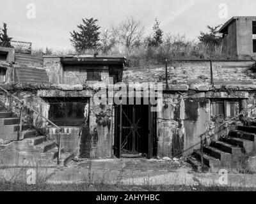
[(118, 44), (118, 28), (111, 25), (109, 29), (103, 31), (100, 35), (100, 44), (102, 53), (108, 54)]

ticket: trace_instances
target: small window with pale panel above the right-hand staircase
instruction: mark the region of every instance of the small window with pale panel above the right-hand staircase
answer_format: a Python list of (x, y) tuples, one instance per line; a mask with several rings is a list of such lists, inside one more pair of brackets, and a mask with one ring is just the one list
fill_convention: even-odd
[(240, 100), (214, 99), (211, 101), (212, 119), (226, 120), (236, 116), (240, 110)]

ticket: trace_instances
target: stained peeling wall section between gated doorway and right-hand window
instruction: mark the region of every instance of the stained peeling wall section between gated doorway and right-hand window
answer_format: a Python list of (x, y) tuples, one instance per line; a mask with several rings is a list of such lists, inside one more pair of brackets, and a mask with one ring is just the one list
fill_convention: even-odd
[[(205, 99), (164, 94), (163, 108), (157, 114), (157, 156), (180, 156), (188, 147), (200, 142), (196, 135), (204, 133), (209, 120), (209, 102)], [(190, 153), (188, 150), (185, 154)]]

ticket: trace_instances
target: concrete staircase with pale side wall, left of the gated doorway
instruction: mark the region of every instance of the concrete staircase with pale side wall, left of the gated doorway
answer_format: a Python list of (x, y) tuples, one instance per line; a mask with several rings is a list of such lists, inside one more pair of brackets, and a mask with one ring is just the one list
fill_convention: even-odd
[[(19, 118), (12, 112), (0, 112), (1, 143), (0, 159), (4, 161), (4, 166), (21, 166), (24, 160), (28, 161), (30, 166), (33, 166), (35, 161), (44, 166), (57, 164), (56, 142), (47, 140), (46, 136), (39, 136), (35, 129), (29, 129), (26, 125), (22, 126), (19, 133)], [(61, 149), (61, 166), (66, 166), (72, 158), (74, 153)]]

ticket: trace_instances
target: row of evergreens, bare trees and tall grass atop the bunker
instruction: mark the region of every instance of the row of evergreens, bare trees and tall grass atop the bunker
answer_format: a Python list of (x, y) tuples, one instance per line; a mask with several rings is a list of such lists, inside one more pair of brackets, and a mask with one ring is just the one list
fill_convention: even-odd
[(155, 19), (152, 33), (145, 35), (143, 23), (132, 15), (118, 25), (100, 32), (98, 20), (84, 18), (77, 31), (70, 33), (70, 41), (79, 54), (123, 54), (129, 66), (161, 64), (164, 59), (223, 59), (220, 25), (207, 26), (200, 32), (198, 41), (186, 36), (164, 33), (161, 22)]

